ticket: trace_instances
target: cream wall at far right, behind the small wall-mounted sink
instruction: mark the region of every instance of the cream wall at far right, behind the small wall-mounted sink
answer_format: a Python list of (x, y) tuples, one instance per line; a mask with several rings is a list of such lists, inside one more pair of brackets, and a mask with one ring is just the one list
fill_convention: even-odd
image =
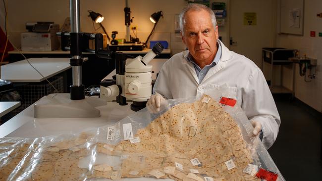
[[(299, 55), (315, 58), (318, 66), (313, 68), (312, 74), (315, 73), (315, 79), (307, 78), (299, 75), (299, 65), (295, 66), (294, 91), (295, 97), (322, 112), (322, 18), (318, 17), (318, 13), (322, 13), (322, 0), (304, 0), (304, 31), (303, 36), (277, 34), (277, 47), (294, 48), (299, 50)], [(311, 37), (311, 31), (316, 32), (315, 37)], [(314, 71), (315, 70), (315, 71)], [(283, 68), (283, 86), (291, 88), (292, 75), (289, 67)], [(307, 75), (310, 71), (307, 72)]]

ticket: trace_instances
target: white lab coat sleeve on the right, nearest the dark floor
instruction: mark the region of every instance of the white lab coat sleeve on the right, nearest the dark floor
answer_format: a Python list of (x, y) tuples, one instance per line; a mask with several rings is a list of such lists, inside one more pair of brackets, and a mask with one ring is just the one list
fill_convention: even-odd
[(248, 119), (262, 124), (263, 144), (268, 149), (276, 140), (280, 117), (265, 77), (259, 68), (249, 77), (242, 101), (242, 109)]

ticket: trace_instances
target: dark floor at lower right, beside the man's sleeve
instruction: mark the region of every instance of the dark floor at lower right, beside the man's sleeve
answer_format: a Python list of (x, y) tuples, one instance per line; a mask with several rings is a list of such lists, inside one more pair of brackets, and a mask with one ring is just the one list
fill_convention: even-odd
[(274, 96), (281, 117), (268, 152), (286, 181), (322, 181), (322, 116), (299, 101)]

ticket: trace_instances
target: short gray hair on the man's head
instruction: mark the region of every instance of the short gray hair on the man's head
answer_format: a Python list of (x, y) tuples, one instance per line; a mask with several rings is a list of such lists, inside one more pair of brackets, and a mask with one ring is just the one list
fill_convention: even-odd
[(179, 28), (180, 28), (180, 31), (182, 32), (182, 35), (184, 34), (184, 25), (186, 24), (186, 21), (184, 18), (185, 18), (186, 13), (189, 10), (195, 10), (195, 11), (205, 10), (205, 11), (207, 11), (210, 14), (214, 28), (216, 27), (217, 22), (216, 22), (215, 13), (213, 10), (211, 10), (209, 7), (207, 7), (204, 4), (190, 3), (186, 7), (184, 7), (183, 10), (179, 14)]

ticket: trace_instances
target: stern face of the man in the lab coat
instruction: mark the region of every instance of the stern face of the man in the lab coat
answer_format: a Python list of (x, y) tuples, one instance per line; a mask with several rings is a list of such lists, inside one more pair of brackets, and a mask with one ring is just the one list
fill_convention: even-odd
[(197, 62), (211, 63), (217, 52), (218, 27), (214, 28), (210, 14), (190, 10), (185, 15), (183, 43)]

